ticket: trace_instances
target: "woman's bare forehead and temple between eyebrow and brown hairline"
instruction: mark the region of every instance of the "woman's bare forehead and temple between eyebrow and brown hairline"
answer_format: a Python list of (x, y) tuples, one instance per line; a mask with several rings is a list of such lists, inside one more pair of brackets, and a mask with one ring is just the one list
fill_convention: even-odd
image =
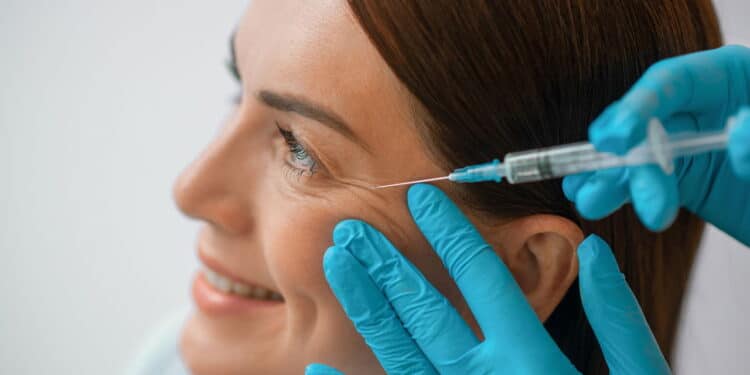
[(401, 84), (345, 1), (256, 0), (235, 37), (246, 93), (304, 96), (337, 112), (365, 139), (411, 122)]

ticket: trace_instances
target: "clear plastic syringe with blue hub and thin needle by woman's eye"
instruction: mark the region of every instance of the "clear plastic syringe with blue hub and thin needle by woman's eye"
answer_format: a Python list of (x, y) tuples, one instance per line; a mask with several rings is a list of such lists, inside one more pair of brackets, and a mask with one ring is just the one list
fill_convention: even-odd
[(729, 130), (734, 123), (730, 117), (721, 131), (684, 132), (668, 136), (658, 119), (651, 119), (648, 138), (624, 156), (599, 152), (589, 142), (578, 142), (528, 151), (511, 152), (503, 162), (495, 159), (484, 164), (458, 168), (448, 176), (380, 185), (376, 189), (411, 185), (419, 182), (450, 180), (454, 182), (500, 182), (511, 184), (541, 181), (567, 175), (623, 166), (657, 164), (665, 173), (674, 170), (677, 157), (696, 155), (726, 148)]

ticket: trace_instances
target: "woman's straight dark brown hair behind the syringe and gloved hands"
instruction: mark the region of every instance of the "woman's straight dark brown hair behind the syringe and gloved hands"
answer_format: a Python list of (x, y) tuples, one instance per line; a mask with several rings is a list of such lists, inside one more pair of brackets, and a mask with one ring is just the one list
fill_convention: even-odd
[[(656, 62), (722, 43), (710, 0), (350, 0), (414, 96), (417, 128), (446, 170), (580, 141), (588, 124)], [(683, 211), (662, 232), (630, 206), (586, 221), (560, 181), (466, 184), (463, 203), (495, 217), (555, 214), (611, 246), (667, 358), (703, 223)], [(545, 323), (573, 364), (606, 373), (573, 285)]]

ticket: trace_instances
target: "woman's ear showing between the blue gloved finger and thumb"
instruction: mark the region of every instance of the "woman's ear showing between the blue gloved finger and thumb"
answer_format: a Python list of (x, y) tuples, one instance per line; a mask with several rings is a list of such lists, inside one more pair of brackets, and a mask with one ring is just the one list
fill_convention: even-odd
[(581, 229), (562, 216), (531, 215), (480, 231), (513, 273), (539, 319), (549, 318), (578, 276)]

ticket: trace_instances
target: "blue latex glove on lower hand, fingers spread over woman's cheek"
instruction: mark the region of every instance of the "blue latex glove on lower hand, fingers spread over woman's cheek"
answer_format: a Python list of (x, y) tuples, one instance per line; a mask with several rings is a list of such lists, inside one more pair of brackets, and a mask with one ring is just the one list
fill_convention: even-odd
[[(380, 232), (347, 220), (323, 259), (326, 278), (389, 374), (578, 373), (529, 306), (508, 268), (443, 192), (415, 185), (409, 209), (456, 281), (484, 341)], [(578, 248), (583, 307), (613, 374), (669, 368), (611, 250)], [(336, 374), (314, 364), (306, 372)]]

